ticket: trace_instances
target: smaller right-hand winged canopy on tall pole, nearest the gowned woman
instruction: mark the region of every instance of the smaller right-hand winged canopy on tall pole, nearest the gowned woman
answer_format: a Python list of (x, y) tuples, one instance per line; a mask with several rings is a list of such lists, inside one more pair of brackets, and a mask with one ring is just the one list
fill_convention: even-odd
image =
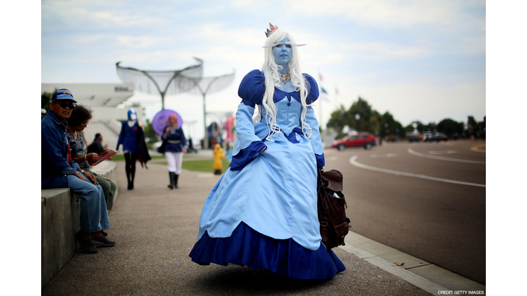
[(213, 93), (218, 93), (221, 90), (224, 90), (225, 88), (229, 87), (233, 81), (234, 81), (234, 74), (235, 70), (233, 69), (233, 73), (216, 76), (216, 77), (202, 77), (200, 79), (195, 78), (189, 78), (194, 79), (194, 82), (196, 83), (196, 88), (193, 88), (190, 90), (191, 95), (202, 95), (203, 96), (203, 131), (204, 131), (204, 138), (203, 138), (203, 147), (202, 149), (208, 149), (209, 148), (209, 138), (207, 137), (207, 108), (205, 107), (205, 97), (207, 94), (211, 95)]

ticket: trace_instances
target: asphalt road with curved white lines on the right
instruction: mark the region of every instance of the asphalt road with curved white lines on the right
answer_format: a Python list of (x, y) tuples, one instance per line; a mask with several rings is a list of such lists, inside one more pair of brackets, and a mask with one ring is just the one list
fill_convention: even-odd
[(344, 175), (351, 230), (486, 284), (483, 144), (325, 149), (325, 170)]

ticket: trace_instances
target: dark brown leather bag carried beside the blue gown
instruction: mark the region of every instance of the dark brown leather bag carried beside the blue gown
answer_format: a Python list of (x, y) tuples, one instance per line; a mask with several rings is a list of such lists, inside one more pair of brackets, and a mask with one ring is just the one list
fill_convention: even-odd
[(318, 170), (318, 221), (320, 236), (327, 249), (346, 245), (344, 237), (348, 234), (350, 220), (346, 215), (346, 199), (342, 194), (342, 173), (340, 171)]

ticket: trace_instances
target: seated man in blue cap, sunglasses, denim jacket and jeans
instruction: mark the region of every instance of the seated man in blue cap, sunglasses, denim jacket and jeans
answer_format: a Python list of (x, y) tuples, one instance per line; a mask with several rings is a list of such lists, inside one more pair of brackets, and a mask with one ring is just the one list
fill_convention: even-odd
[(108, 240), (104, 230), (110, 228), (106, 200), (95, 176), (80, 169), (71, 158), (66, 136), (67, 119), (75, 107), (73, 95), (67, 89), (57, 90), (49, 112), (41, 123), (41, 188), (70, 188), (80, 199), (80, 231), (75, 240), (84, 252), (97, 253), (97, 247), (111, 247), (115, 242)]

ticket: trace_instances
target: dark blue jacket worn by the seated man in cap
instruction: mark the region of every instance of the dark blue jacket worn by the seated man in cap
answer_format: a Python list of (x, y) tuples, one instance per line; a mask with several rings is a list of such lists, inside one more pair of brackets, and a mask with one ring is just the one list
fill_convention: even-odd
[(68, 187), (67, 175), (74, 175), (80, 169), (73, 161), (68, 163), (66, 126), (67, 121), (61, 123), (55, 114), (47, 112), (40, 121), (40, 187), (65, 188)]

